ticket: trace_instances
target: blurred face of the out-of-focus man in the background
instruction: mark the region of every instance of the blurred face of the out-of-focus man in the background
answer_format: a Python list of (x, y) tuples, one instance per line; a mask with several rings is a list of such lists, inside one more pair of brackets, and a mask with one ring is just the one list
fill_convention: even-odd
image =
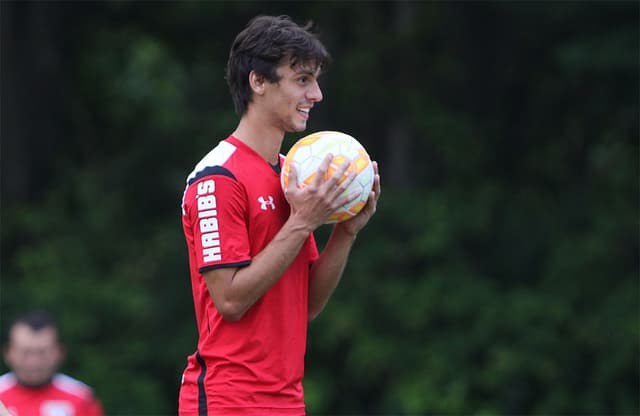
[(11, 330), (5, 362), (21, 384), (40, 386), (49, 382), (62, 358), (56, 329), (48, 327), (34, 331), (27, 325), (18, 324)]

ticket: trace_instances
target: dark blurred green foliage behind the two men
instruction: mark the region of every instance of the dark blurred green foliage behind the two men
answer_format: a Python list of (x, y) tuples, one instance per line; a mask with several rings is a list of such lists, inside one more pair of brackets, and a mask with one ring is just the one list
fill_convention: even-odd
[(335, 63), (308, 130), (358, 137), (383, 178), (310, 324), (309, 414), (639, 412), (637, 2), (2, 9), (3, 42), (24, 48), (3, 87), (30, 82), (38, 17), (56, 23), (40, 46), (64, 87), (3, 95), (32, 107), (3, 149), (56, 107), (61, 133), (29, 136), (37, 165), (2, 152), (2, 330), (26, 309), (58, 315), (63, 370), (107, 414), (175, 414), (196, 345), (184, 179), (237, 122), (224, 65), (260, 13), (317, 23)]

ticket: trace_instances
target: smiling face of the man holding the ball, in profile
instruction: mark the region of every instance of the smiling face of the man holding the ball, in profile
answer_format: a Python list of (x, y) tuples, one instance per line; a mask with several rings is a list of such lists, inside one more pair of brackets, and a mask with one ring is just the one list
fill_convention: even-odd
[(289, 63), (278, 67), (280, 81), (266, 83), (265, 111), (269, 121), (285, 132), (304, 131), (313, 105), (322, 101), (320, 68)]

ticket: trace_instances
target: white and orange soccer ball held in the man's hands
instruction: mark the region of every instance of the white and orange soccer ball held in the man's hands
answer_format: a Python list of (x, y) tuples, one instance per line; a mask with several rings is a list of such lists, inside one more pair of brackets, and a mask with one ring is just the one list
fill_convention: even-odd
[(362, 210), (367, 203), (373, 187), (373, 164), (364, 147), (353, 137), (337, 131), (319, 131), (298, 140), (289, 150), (282, 165), (280, 183), (285, 190), (289, 184), (291, 165), (298, 174), (298, 187), (310, 184), (316, 176), (320, 163), (325, 156), (333, 154), (324, 180), (327, 180), (346, 161), (351, 162), (345, 174), (338, 180), (342, 183), (349, 173), (355, 171), (357, 176), (342, 196), (350, 195), (354, 190), (359, 192), (358, 198), (338, 208), (327, 220), (327, 224), (346, 221)]

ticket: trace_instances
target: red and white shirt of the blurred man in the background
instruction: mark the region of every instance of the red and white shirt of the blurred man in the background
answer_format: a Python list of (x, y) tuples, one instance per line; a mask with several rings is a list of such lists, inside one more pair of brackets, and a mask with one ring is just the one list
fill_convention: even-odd
[(15, 374), (0, 376), (0, 402), (13, 416), (102, 416), (93, 390), (81, 381), (56, 374), (41, 387), (18, 383)]

